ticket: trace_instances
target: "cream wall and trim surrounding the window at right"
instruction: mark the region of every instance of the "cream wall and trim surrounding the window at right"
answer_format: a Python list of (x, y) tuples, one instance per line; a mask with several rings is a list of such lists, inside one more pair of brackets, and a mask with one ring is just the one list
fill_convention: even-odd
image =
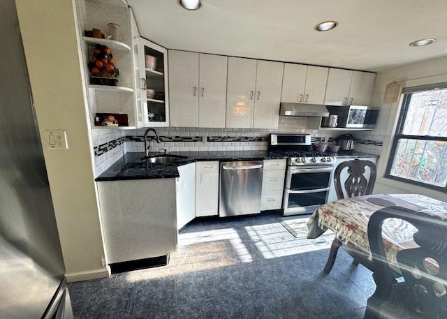
[(390, 68), (377, 74), (372, 105), (379, 106), (380, 112), (379, 123), (373, 133), (376, 132), (378, 133), (377, 135), (384, 135), (381, 159), (378, 167), (379, 178), (376, 181), (374, 193), (420, 193), (439, 200), (446, 200), (445, 193), (383, 178), (390, 154), (391, 140), (395, 132), (395, 124), (400, 110), (400, 102), (392, 104), (382, 103), (386, 85), (391, 82), (403, 82), (403, 87), (447, 82), (447, 57)]

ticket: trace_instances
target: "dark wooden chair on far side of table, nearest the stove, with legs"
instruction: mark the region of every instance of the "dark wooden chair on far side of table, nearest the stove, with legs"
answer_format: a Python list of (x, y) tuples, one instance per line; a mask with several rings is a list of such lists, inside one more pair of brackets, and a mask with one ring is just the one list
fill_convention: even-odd
[[(367, 168), (369, 168), (369, 178), (367, 178)], [(348, 177), (342, 180), (342, 172), (347, 169)], [(376, 182), (376, 165), (372, 161), (362, 161), (355, 159), (337, 165), (334, 173), (335, 191), (339, 200), (353, 196), (370, 195), (374, 183)], [(371, 269), (372, 263), (369, 256), (350, 244), (344, 244), (337, 236), (332, 241), (328, 261), (324, 267), (324, 272), (329, 274), (334, 267), (335, 258), (340, 247), (343, 247), (353, 258), (354, 264), (362, 263)]]

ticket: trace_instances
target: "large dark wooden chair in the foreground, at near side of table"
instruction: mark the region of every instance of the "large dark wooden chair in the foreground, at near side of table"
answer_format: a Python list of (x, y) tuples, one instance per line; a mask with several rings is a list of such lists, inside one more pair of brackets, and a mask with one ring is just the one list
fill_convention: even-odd
[[(397, 253), (404, 282), (397, 283), (389, 267), (382, 239), (387, 218), (400, 218), (418, 231), (417, 248)], [(376, 291), (369, 297), (365, 318), (447, 318), (447, 221), (404, 207), (384, 207), (369, 218)]]

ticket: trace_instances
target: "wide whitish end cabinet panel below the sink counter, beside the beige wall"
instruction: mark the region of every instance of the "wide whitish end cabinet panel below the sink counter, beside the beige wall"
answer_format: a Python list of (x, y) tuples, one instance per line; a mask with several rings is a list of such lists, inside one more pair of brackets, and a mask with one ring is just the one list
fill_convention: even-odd
[(177, 250), (175, 179), (98, 181), (109, 264)]

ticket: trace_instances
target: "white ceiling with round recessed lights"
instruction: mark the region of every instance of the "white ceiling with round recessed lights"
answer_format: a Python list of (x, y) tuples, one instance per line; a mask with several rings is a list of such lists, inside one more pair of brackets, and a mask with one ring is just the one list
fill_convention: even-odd
[[(127, 0), (140, 36), (168, 49), (362, 71), (447, 54), (446, 0)], [(319, 22), (339, 26), (317, 32)], [(413, 40), (435, 38), (425, 47)]]

